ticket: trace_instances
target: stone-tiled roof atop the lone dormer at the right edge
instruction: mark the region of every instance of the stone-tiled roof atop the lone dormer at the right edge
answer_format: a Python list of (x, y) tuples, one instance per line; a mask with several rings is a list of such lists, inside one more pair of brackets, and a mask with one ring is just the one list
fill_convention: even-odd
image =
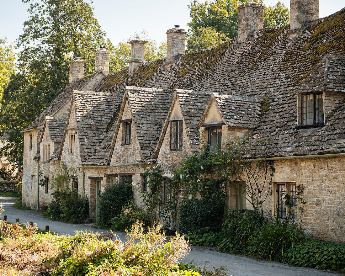
[(325, 55), (302, 83), (299, 92), (323, 90), (345, 92), (345, 56)]

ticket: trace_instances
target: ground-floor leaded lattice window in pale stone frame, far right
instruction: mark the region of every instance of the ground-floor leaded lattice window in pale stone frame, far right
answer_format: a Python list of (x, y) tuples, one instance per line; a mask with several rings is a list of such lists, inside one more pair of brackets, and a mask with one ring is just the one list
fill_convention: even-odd
[(277, 184), (278, 218), (297, 219), (297, 187), (296, 184)]

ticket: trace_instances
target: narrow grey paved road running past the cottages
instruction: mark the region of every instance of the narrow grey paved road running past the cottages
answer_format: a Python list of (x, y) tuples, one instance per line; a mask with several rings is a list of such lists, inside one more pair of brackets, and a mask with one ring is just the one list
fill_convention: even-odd
[[(33, 221), (41, 229), (45, 229), (49, 225), (49, 230), (58, 235), (74, 235), (77, 230), (87, 230), (93, 232), (109, 233), (108, 230), (93, 228), (92, 224), (69, 224), (60, 221), (50, 220), (43, 217), (40, 212), (33, 210), (18, 210), (13, 207), (16, 198), (0, 197), (3, 204), (3, 215), (7, 216), (10, 223), (15, 223), (16, 218), (20, 219), (20, 223)], [(125, 233), (114, 232), (122, 241), (125, 240)], [(324, 270), (316, 270), (313, 268), (295, 267), (277, 262), (269, 262), (266, 260), (256, 260), (252, 258), (242, 257), (238, 255), (230, 255), (217, 252), (215, 249), (192, 246), (189, 254), (183, 259), (184, 263), (193, 260), (196, 267), (203, 267), (205, 262), (207, 267), (226, 266), (230, 271), (229, 275), (234, 276), (335, 276), (340, 274), (329, 273)]]

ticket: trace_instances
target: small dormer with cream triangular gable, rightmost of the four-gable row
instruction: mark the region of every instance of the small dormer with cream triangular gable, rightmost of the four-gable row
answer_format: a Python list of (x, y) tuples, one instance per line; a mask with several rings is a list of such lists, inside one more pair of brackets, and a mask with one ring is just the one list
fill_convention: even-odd
[(227, 140), (246, 136), (257, 126), (263, 101), (213, 93), (198, 124), (201, 139), (215, 149)]

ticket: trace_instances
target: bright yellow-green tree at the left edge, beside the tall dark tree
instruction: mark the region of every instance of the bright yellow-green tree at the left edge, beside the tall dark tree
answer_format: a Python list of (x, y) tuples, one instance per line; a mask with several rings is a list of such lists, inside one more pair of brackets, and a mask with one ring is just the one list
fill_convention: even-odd
[(16, 71), (14, 62), (16, 55), (13, 52), (13, 46), (7, 43), (7, 38), (0, 38), (0, 101), (4, 87), (10, 80), (11, 75)]

